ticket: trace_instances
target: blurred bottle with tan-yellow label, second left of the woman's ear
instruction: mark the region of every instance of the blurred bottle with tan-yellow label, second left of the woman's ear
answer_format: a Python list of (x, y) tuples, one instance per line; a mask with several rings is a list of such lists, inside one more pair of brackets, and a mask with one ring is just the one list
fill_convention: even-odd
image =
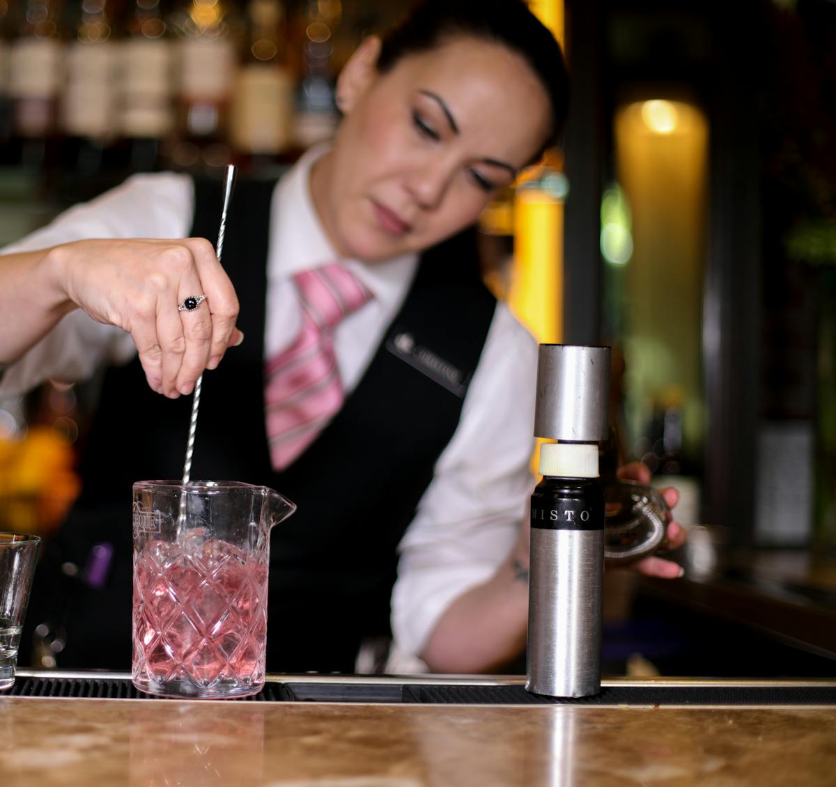
[(287, 18), (280, 0), (250, 0), (230, 135), (244, 169), (264, 170), (291, 144), (294, 80), (287, 47)]

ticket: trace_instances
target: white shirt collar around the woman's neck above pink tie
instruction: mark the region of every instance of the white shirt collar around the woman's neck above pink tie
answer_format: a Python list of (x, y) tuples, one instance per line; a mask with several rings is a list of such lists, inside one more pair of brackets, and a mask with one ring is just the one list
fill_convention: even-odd
[(306, 151), (278, 182), (270, 208), (268, 281), (340, 261), (385, 306), (395, 305), (415, 275), (418, 255), (403, 254), (385, 262), (340, 258), (325, 235), (310, 193), (310, 172), (327, 145)]

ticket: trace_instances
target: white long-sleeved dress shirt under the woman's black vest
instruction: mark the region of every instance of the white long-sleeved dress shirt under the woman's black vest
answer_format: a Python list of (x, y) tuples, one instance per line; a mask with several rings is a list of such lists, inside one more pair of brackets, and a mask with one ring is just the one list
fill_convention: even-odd
[[(293, 274), (339, 258), (311, 201), (310, 167), (318, 154), (308, 151), (273, 193), (265, 359), (285, 348), (298, 332), (301, 316)], [(134, 175), (95, 200), (65, 211), (3, 253), (85, 238), (180, 238), (191, 228), (193, 210), (188, 176)], [(409, 254), (375, 264), (342, 261), (375, 296), (340, 322), (334, 334), (339, 373), (348, 392), (398, 312), (417, 257)], [(76, 310), (8, 367), (0, 380), (0, 395), (22, 393), (51, 378), (83, 380), (100, 364), (126, 363), (134, 354), (127, 333)], [(517, 538), (533, 486), (528, 463), (536, 368), (537, 344), (500, 303), (458, 428), (400, 542), (392, 593), (392, 627), (400, 651), (421, 652), (450, 603), (487, 581)]]

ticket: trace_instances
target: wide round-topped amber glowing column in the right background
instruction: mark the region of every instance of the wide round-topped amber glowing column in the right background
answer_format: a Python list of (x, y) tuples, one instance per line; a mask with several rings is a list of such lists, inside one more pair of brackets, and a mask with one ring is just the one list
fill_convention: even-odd
[[(649, 116), (658, 129), (650, 129)], [(674, 117), (675, 128), (661, 132)], [(601, 217), (602, 223), (613, 221), (629, 201), (633, 250), (630, 264), (619, 268), (625, 418), (631, 434), (644, 434), (665, 391), (679, 386), (683, 437), (696, 454), (703, 426), (708, 122), (694, 104), (658, 100), (621, 107), (614, 120), (618, 179), (626, 199), (619, 207), (613, 196), (602, 204)]]

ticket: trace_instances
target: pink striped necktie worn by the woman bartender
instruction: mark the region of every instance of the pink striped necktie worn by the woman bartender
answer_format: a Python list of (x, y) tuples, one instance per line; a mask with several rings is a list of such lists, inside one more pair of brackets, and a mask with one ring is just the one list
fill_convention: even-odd
[(334, 327), (372, 297), (349, 270), (333, 262), (293, 277), (302, 329), (265, 369), (264, 402), (273, 467), (284, 470), (314, 442), (345, 395), (334, 355)]

